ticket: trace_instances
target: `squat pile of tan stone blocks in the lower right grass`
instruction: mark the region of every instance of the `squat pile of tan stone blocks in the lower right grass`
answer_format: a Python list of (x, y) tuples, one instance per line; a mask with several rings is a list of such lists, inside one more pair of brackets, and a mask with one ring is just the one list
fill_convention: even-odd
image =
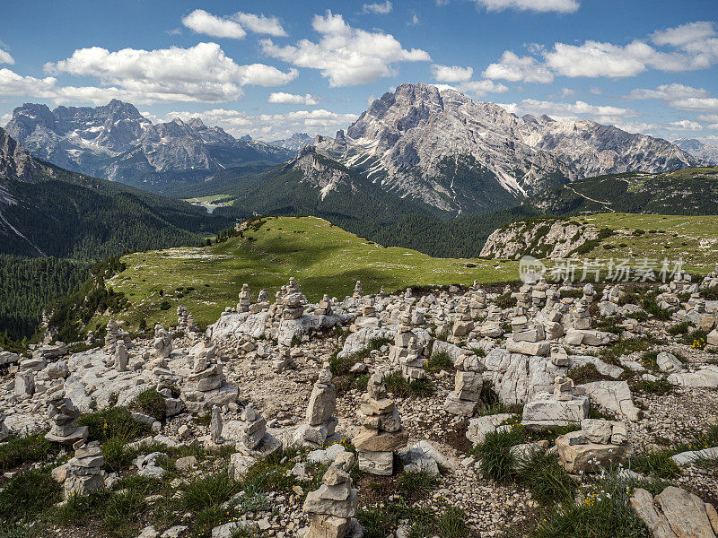
[(618, 421), (584, 419), (581, 430), (556, 438), (556, 451), (569, 473), (596, 473), (610, 469), (628, 456), (626, 425)]

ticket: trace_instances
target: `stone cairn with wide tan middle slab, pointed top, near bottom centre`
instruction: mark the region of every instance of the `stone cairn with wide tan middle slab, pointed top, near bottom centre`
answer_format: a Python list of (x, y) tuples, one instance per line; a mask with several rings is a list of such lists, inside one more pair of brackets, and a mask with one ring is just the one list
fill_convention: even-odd
[(394, 451), (407, 445), (407, 431), (401, 426), (396, 404), (387, 397), (380, 373), (372, 374), (359, 413), (363, 424), (352, 440), (359, 453), (359, 469), (390, 476), (394, 472)]

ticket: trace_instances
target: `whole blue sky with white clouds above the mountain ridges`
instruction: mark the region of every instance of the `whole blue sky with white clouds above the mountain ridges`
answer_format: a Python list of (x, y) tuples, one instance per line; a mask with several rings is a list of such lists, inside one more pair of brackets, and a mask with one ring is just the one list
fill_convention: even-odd
[(261, 140), (333, 135), (402, 82), (718, 144), (717, 0), (26, 0), (0, 5), (0, 126), (131, 102)]

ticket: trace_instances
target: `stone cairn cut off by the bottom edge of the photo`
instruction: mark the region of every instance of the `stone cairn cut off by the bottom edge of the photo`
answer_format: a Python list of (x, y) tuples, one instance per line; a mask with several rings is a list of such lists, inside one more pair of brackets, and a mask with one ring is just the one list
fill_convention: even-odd
[(321, 478), (319, 490), (310, 491), (302, 510), (310, 517), (304, 538), (343, 538), (359, 506), (358, 491), (349, 476), (355, 456), (340, 452)]

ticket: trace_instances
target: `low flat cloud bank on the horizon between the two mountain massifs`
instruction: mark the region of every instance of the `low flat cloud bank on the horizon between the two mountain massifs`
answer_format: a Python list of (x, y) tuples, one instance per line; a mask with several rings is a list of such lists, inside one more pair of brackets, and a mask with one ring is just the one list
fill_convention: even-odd
[(207, 125), (221, 126), (234, 136), (250, 134), (253, 138), (261, 140), (286, 138), (296, 132), (333, 135), (337, 129), (346, 129), (346, 126), (357, 118), (355, 114), (332, 112), (323, 108), (257, 116), (250, 116), (240, 110), (215, 108), (200, 113), (170, 112), (163, 120), (171, 121), (175, 117), (180, 117), (184, 121), (188, 121), (191, 117), (199, 117)]

